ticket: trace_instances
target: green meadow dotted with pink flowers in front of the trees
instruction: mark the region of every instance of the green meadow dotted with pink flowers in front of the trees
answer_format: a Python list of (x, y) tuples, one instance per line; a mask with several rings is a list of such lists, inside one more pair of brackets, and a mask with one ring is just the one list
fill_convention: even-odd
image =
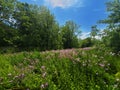
[(1, 54), (0, 90), (120, 90), (120, 55), (88, 48)]

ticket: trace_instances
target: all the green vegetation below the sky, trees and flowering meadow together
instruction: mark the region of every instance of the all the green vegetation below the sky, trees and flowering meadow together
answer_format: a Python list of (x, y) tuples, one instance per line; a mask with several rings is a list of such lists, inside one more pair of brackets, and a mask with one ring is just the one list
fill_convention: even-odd
[(119, 90), (120, 0), (106, 5), (107, 27), (81, 40), (79, 25), (60, 26), (45, 6), (0, 0), (0, 90)]

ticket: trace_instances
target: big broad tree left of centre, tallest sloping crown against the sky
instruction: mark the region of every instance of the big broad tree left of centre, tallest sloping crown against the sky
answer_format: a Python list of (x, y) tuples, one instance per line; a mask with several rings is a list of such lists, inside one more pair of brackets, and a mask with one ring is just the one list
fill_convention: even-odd
[(14, 17), (21, 37), (20, 47), (40, 50), (61, 47), (59, 25), (46, 7), (18, 3)]

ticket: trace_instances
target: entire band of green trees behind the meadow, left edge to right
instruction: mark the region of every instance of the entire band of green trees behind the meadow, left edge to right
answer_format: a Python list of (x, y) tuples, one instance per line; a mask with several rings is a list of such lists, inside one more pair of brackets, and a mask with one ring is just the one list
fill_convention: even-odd
[[(89, 47), (101, 44), (114, 52), (120, 51), (120, 0), (106, 3), (108, 17), (99, 23), (107, 24), (100, 32), (91, 27), (90, 37), (78, 38), (80, 27), (73, 21), (60, 26), (54, 14), (45, 6), (0, 0), (0, 47), (19, 50), (52, 50)], [(100, 40), (96, 36), (101, 37)]]

